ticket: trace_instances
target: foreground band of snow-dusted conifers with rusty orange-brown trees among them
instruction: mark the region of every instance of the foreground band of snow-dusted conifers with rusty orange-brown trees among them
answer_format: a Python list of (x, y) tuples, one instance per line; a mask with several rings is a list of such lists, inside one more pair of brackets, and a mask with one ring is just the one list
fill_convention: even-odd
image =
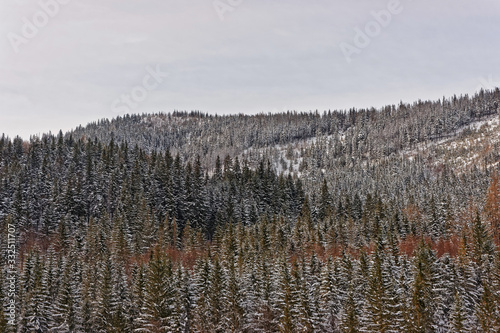
[(293, 226), (277, 218), (228, 223), (211, 242), (189, 225), (180, 233), (167, 217), (141, 254), (123, 221), (106, 223), (24, 253), (19, 332), (500, 328), (500, 253), (479, 215), (460, 238), (440, 240), (451, 254), (383, 226), (371, 246), (343, 246), (348, 222), (313, 223), (307, 201)]

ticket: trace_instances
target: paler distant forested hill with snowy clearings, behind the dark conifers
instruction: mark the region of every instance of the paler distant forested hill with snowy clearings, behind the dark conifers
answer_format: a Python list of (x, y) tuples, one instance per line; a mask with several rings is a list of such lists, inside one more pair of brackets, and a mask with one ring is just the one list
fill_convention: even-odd
[(224, 170), (235, 158), (239, 168), (251, 170), (269, 162), (277, 176), (300, 178), (313, 205), (325, 180), (334, 198), (377, 193), (400, 208), (446, 200), (464, 208), (471, 200), (481, 203), (490, 170), (500, 160), (499, 102), (496, 89), (380, 110), (126, 115), (64, 138), (179, 155), (181, 163), (198, 163), (210, 176), (218, 158)]

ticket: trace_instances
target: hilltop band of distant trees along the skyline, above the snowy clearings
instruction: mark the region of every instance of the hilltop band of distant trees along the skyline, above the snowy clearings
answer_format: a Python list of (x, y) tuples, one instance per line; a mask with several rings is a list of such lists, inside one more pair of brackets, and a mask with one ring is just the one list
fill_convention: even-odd
[(259, 115), (207, 115), (200, 112), (125, 115), (101, 120), (68, 133), (130, 147), (181, 153), (194, 161), (200, 156), (207, 167), (217, 155), (236, 156), (249, 148), (294, 144), (317, 136), (331, 136), (353, 155), (390, 156), (425, 141), (456, 135), (464, 127), (497, 114), (500, 92), (481, 91), (470, 97), (388, 105), (381, 110), (324, 112), (288, 111)]

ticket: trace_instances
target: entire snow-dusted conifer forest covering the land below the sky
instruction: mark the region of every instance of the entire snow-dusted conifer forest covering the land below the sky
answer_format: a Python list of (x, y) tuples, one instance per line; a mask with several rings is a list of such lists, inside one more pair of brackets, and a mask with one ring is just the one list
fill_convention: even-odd
[(499, 332), (499, 103), (2, 136), (0, 332)]

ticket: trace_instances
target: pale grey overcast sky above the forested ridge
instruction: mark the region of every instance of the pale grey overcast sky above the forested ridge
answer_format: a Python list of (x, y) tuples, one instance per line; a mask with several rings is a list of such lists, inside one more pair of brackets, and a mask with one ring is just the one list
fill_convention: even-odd
[(500, 86), (498, 0), (2, 0), (0, 135)]

